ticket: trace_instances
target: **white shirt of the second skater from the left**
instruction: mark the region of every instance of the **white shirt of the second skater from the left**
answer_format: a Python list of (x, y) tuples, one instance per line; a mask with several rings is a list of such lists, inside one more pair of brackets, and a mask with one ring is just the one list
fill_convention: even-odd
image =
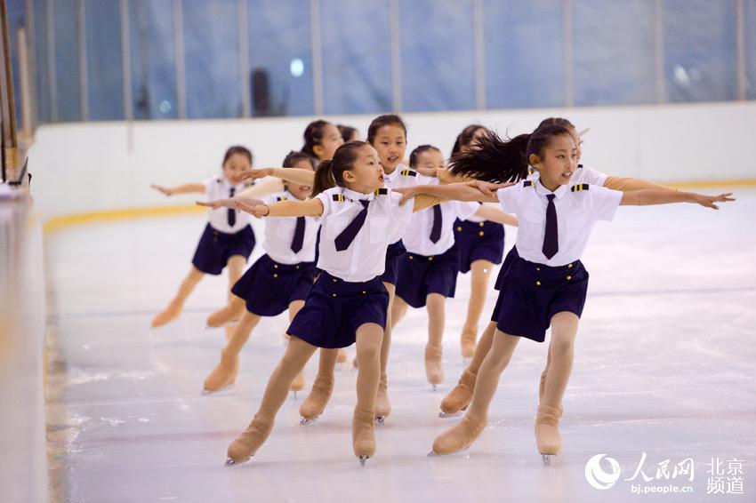
[[(263, 204), (278, 201), (298, 201), (288, 191), (271, 194), (261, 198)], [(296, 229), (297, 217), (269, 217), (265, 220), (265, 241), (262, 248), (271, 259), (280, 264), (293, 265), (315, 260), (315, 242), (318, 238), (320, 224), (312, 217), (304, 217), (304, 239), (302, 250), (294, 253), (292, 241)]]

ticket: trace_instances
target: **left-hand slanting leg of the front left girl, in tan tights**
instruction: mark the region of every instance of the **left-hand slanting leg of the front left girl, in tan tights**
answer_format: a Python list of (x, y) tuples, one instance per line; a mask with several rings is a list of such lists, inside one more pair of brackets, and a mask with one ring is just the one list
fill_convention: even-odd
[(254, 415), (249, 427), (229, 445), (228, 464), (240, 463), (253, 456), (268, 438), (273, 422), (281, 405), (286, 401), (289, 387), (296, 375), (302, 371), (318, 347), (297, 337), (292, 337), (286, 352), (270, 375), (265, 395), (262, 395), (260, 409)]

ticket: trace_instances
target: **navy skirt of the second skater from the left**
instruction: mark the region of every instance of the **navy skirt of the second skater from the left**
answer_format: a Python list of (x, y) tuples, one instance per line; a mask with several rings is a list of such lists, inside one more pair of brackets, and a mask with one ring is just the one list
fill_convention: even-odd
[(280, 264), (265, 254), (234, 283), (231, 293), (245, 299), (253, 315), (276, 316), (294, 300), (307, 299), (314, 282), (314, 262)]

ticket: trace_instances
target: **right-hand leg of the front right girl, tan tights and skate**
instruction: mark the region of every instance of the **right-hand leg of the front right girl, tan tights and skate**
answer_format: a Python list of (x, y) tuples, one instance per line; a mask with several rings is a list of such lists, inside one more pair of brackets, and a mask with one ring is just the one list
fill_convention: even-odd
[(543, 398), (535, 416), (535, 442), (544, 456), (559, 454), (561, 435), (559, 418), (575, 357), (575, 335), (580, 319), (569, 312), (551, 317), (551, 363), (546, 376)]

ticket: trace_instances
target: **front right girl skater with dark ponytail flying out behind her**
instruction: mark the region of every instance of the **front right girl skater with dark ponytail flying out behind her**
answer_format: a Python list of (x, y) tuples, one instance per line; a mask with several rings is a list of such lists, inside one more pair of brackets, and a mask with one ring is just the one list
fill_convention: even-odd
[(573, 134), (551, 124), (507, 142), (496, 136), (482, 139), (479, 148), (458, 157), (452, 169), (499, 181), (516, 178), (527, 170), (528, 163), (538, 170), (538, 180), (499, 188), (492, 196), (481, 196), (479, 190), (457, 184), (407, 189), (408, 195), (498, 201), (504, 212), (514, 212), (519, 219), (517, 244), (504, 262), (491, 318), (494, 341), (480, 367), (472, 402), (459, 424), (438, 435), (431, 453), (459, 451), (478, 438), (486, 427), (499, 376), (517, 343), (523, 338), (543, 342), (551, 325), (551, 364), (535, 417), (535, 441), (548, 464), (549, 457), (559, 454), (561, 448), (562, 396), (572, 370), (575, 335), (588, 286), (580, 257), (593, 223), (612, 220), (621, 204), (697, 203), (717, 209), (715, 203), (734, 200), (730, 194), (702, 196), (667, 189), (623, 193), (575, 184), (572, 178), (578, 168)]

